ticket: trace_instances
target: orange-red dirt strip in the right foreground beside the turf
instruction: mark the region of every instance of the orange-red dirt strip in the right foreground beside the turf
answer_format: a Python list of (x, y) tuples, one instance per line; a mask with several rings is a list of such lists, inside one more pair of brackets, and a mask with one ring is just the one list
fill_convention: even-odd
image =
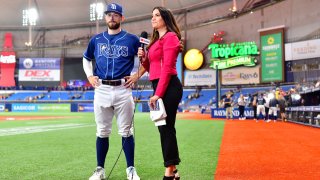
[(226, 121), (214, 179), (319, 179), (320, 130)]

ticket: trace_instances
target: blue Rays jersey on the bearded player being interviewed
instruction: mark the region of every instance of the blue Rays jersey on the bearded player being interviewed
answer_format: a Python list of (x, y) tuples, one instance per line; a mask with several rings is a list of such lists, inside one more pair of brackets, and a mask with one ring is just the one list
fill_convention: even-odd
[(105, 31), (90, 39), (83, 57), (89, 61), (95, 60), (94, 76), (107, 80), (121, 79), (130, 75), (139, 47), (136, 35), (124, 30), (109, 35)]

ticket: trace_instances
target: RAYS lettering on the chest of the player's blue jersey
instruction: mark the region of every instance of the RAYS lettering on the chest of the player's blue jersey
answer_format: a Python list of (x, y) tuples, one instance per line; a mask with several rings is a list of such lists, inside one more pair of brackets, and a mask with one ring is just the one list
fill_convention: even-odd
[(104, 56), (106, 58), (118, 58), (120, 56), (127, 57), (128, 47), (100, 43), (98, 44), (98, 54), (99, 56)]

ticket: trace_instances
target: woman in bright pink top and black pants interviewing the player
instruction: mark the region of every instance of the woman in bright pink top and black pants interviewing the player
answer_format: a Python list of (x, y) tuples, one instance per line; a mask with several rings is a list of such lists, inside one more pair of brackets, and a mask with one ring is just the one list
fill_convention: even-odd
[(175, 122), (183, 92), (176, 70), (181, 34), (172, 13), (164, 7), (153, 9), (151, 24), (153, 34), (147, 53), (139, 48), (138, 56), (144, 69), (149, 72), (154, 90), (149, 99), (150, 108), (154, 108), (156, 101), (162, 98), (167, 113), (166, 125), (158, 126), (165, 166), (163, 179), (180, 179), (176, 169), (180, 157)]

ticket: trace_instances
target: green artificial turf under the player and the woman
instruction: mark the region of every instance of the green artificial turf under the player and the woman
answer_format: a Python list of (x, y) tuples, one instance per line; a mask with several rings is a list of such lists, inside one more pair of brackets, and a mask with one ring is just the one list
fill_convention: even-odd
[[(61, 114), (0, 114), (8, 115)], [(91, 176), (96, 166), (93, 113), (62, 115), (66, 118), (0, 121), (0, 132), (9, 128), (23, 128), (18, 129), (19, 132), (24, 127), (51, 128), (45, 132), (10, 136), (0, 133), (0, 179), (88, 179)], [(135, 166), (138, 174), (142, 180), (161, 179), (164, 167), (158, 129), (149, 120), (147, 113), (136, 113), (134, 119)], [(61, 129), (52, 130), (57, 125), (62, 125)], [(223, 121), (177, 120), (177, 138), (182, 160), (178, 169), (183, 179), (213, 179), (223, 127)], [(114, 120), (105, 165), (107, 175), (120, 150), (121, 137)], [(126, 162), (122, 152), (110, 180), (126, 179), (125, 169)]]

